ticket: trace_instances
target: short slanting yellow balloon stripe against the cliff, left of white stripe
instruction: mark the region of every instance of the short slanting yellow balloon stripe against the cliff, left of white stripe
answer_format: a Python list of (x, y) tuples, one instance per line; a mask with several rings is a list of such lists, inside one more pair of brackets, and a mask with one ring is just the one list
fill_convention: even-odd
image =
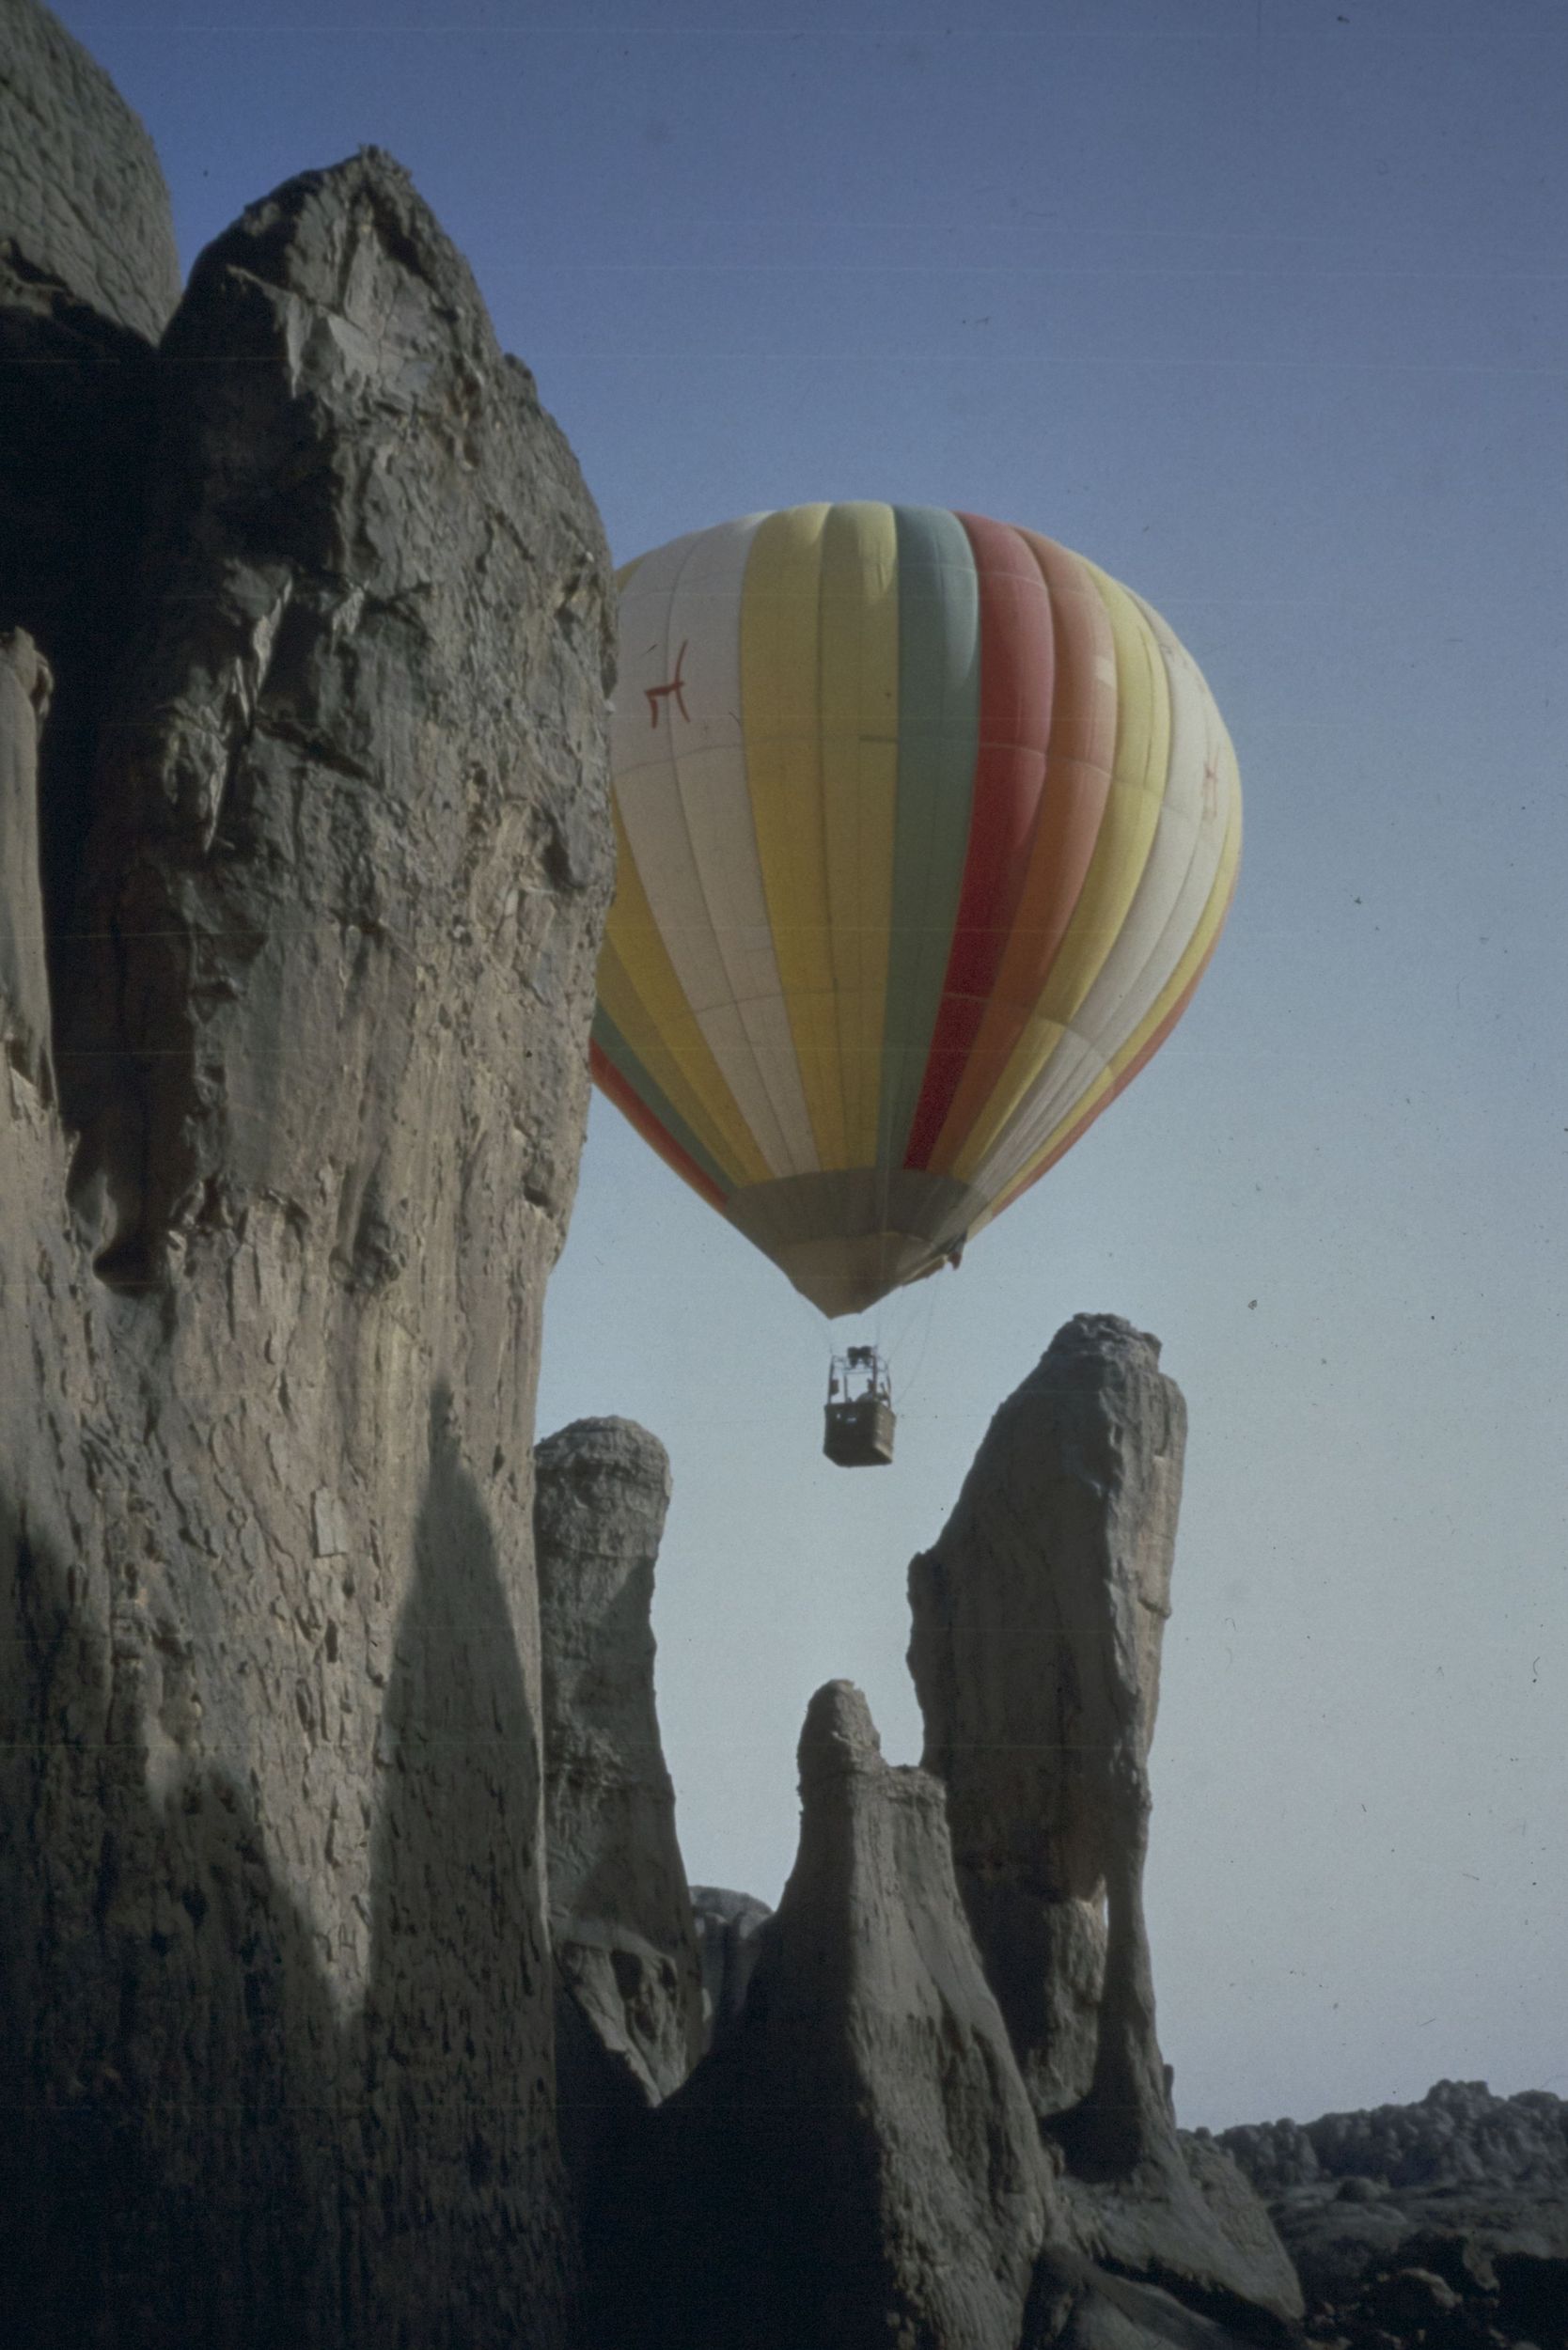
[(665, 942), (654, 924), (621, 811), (616, 822), (616, 902), (599, 954), (599, 1003), (616, 1022), (654, 1083), (679, 1109), (691, 1133), (731, 1182), (766, 1182), (773, 1173), (736, 1109), (724, 1072), (712, 1058)]

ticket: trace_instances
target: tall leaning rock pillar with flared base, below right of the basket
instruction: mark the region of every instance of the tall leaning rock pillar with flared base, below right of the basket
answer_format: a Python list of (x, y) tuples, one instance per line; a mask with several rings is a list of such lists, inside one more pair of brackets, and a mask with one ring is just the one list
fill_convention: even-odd
[(1143, 1915), (1185, 1436), (1159, 1342), (1070, 1321), (910, 1567), (910, 1668), (1077, 2244), (1246, 2329), (1288, 2324), (1300, 2294), (1234, 2164), (1175, 2129)]

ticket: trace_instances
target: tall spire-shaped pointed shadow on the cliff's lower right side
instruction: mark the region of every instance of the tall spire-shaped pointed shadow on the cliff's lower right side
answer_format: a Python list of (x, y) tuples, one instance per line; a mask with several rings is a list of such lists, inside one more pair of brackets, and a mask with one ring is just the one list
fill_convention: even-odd
[(444, 1382), (428, 1445), (376, 1741), (362, 2131), (381, 2181), (381, 2331), (371, 2322), (364, 2338), (477, 2343), (501, 2338), (505, 2312), (494, 2268), (473, 2258), (475, 2232), (538, 2230), (545, 2268), (564, 2280), (567, 2265), (550, 2237), (555, 2193), (543, 2193), (550, 2082), (527, 2037), (548, 1969), (541, 1779), (496, 1537)]

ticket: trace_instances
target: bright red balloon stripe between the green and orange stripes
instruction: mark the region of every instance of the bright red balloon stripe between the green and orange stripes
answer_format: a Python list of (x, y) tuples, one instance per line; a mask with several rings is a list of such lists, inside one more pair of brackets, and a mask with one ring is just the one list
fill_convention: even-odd
[(983, 515), (959, 515), (959, 522), (980, 588), (980, 745), (959, 914), (910, 1126), (907, 1168), (931, 1166), (997, 985), (1027, 874), (1051, 731), (1051, 599), (1039, 564), (1006, 522)]

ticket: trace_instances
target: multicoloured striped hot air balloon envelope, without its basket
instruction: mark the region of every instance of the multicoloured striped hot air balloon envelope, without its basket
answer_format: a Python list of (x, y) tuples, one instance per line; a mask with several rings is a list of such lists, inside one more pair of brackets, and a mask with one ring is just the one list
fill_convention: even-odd
[(957, 1262), (1121, 1093), (1241, 853), (1159, 613), (931, 505), (628, 564), (614, 801), (595, 1079), (830, 1316)]

